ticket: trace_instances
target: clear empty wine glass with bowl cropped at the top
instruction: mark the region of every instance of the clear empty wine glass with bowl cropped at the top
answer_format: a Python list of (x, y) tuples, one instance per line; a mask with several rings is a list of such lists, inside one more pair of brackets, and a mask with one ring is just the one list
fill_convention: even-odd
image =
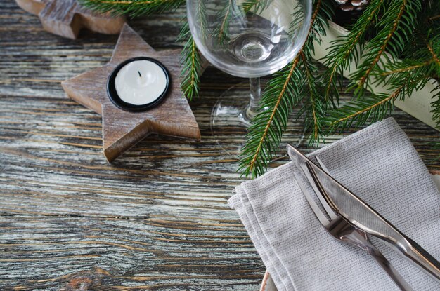
[[(241, 142), (228, 147), (222, 137), (231, 140), (238, 129), (250, 126), (260, 107), (260, 77), (295, 58), (309, 31), (311, 6), (311, 0), (186, 1), (188, 24), (200, 53), (218, 69), (250, 78), (250, 94), (249, 89), (234, 86), (212, 110), (212, 133), (230, 154), (240, 152)], [(242, 107), (246, 100), (250, 101)]]

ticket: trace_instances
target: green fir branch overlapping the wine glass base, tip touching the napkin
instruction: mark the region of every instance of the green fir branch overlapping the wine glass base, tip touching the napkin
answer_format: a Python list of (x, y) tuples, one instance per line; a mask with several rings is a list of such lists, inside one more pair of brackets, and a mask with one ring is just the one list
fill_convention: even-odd
[[(252, 178), (262, 175), (273, 154), (278, 151), (292, 109), (304, 97), (303, 87), (307, 78), (304, 67), (299, 66), (302, 54), (311, 55), (313, 41), (319, 41), (319, 34), (323, 34), (326, 20), (331, 14), (330, 8), (324, 6), (322, 0), (316, 0), (306, 43), (290, 65), (274, 74), (266, 86), (261, 97), (261, 111), (252, 121), (240, 155), (239, 170), (242, 175), (251, 175)], [(264, 107), (266, 110), (263, 110)]]

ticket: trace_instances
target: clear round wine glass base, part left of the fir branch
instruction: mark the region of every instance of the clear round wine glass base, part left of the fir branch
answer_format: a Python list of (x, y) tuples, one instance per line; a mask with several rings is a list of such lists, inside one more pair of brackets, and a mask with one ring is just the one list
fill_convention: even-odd
[(246, 81), (226, 90), (212, 109), (212, 135), (224, 154), (233, 158), (240, 155), (250, 126), (244, 114), (249, 102), (250, 88)]

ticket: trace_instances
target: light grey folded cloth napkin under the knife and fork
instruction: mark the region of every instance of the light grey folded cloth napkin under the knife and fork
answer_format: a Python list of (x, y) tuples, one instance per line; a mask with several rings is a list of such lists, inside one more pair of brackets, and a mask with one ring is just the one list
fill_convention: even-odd
[[(358, 131), (318, 155), (333, 177), (440, 260), (440, 194), (394, 119)], [(399, 290), (363, 250), (330, 236), (287, 163), (242, 183), (229, 199), (279, 291)], [(415, 290), (440, 284), (382, 241), (373, 243)]]

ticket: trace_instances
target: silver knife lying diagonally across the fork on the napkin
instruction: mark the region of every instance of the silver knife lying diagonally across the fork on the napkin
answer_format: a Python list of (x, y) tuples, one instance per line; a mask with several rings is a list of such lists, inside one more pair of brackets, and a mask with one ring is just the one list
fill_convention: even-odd
[(332, 176), (321, 170), (300, 151), (287, 145), (287, 153), (297, 165), (306, 162), (309, 164), (313, 181), (318, 186), (318, 189), (320, 189), (321, 194), (328, 199), (328, 203), (332, 208), (335, 208), (339, 215), (366, 233), (389, 243), (394, 249), (401, 252), (411, 262), (415, 263), (416, 266), (440, 283), (440, 262), (432, 257), (432, 255), (429, 255), (418, 243), (404, 235), (396, 226), (393, 226), (387, 219), (384, 219), (382, 215), (371, 208), (370, 205), (337, 182)]

